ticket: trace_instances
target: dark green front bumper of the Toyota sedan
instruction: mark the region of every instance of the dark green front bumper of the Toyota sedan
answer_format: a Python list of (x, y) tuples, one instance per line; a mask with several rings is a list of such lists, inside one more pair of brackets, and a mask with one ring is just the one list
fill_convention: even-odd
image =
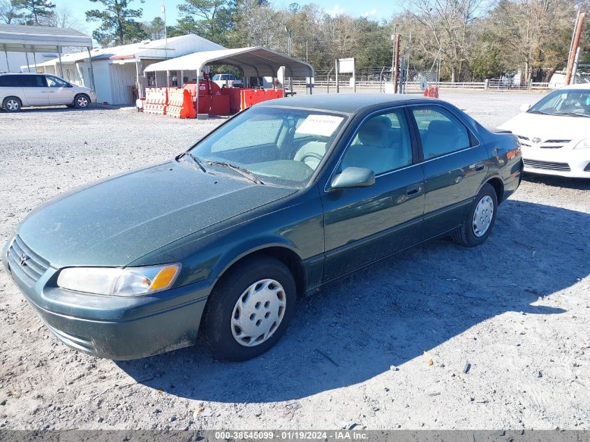
[[(196, 343), (200, 318), (212, 280), (152, 296), (117, 297), (64, 290), (50, 267), (27, 285), (18, 267), (3, 262), (24, 297), (64, 344), (113, 360), (145, 358)], [(13, 265), (13, 267), (15, 267)]]

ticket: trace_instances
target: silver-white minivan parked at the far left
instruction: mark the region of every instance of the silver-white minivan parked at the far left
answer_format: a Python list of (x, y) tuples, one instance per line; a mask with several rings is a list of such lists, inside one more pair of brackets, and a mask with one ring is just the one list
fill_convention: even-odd
[(0, 105), (6, 112), (18, 112), (24, 106), (87, 108), (95, 102), (92, 89), (75, 86), (55, 75), (0, 73)]

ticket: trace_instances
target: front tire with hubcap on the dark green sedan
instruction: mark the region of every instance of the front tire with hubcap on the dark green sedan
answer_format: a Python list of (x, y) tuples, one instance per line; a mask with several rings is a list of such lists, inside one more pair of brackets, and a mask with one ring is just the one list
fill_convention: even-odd
[(296, 298), (293, 274), (281, 261), (261, 255), (238, 263), (209, 295), (201, 321), (205, 344), (214, 358), (256, 358), (286, 332)]

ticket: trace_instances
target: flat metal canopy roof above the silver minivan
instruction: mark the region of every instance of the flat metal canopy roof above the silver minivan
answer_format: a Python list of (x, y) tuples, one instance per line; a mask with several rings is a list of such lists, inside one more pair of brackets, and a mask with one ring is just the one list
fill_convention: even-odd
[(92, 38), (69, 28), (0, 24), (2, 51), (55, 51), (58, 46), (92, 47)]

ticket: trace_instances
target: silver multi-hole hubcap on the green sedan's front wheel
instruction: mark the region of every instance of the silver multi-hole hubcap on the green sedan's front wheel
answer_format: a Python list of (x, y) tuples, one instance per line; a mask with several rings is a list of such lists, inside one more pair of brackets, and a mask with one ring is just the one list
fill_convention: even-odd
[(285, 289), (274, 279), (253, 283), (238, 298), (232, 315), (234, 339), (245, 347), (262, 344), (285, 316)]

